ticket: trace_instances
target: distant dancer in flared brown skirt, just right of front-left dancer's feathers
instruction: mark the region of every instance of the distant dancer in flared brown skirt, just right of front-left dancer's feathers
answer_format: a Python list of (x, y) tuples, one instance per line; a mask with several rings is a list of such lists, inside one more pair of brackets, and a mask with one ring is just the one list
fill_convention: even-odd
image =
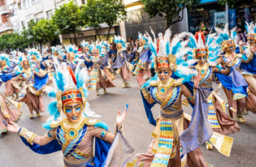
[(96, 90), (96, 95), (99, 96), (99, 90), (101, 88), (103, 88), (104, 94), (106, 94), (107, 88), (116, 87), (116, 84), (113, 82), (116, 77), (110, 73), (105, 64), (104, 57), (107, 51), (101, 47), (101, 43), (98, 43), (98, 41), (92, 43), (90, 49), (92, 58), (87, 59), (85, 57), (87, 62), (93, 62), (89, 90)]

